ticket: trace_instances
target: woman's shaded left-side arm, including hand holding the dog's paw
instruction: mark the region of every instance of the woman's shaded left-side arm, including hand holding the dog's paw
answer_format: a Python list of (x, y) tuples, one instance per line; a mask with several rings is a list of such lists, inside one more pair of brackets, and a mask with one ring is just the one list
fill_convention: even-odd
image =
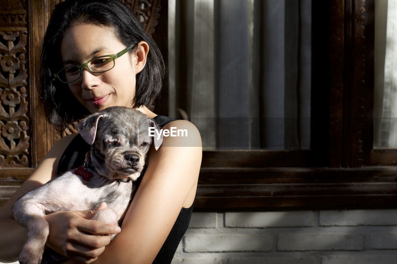
[[(0, 210), (0, 261), (15, 261), (27, 239), (27, 229), (20, 226), (13, 218), (12, 206), (23, 194), (48, 182), (57, 174), (58, 161), (71, 140), (69, 135), (58, 141), (44, 157), (35, 172), (21, 185)], [(103, 205), (99, 209), (106, 208)], [(98, 209), (98, 210), (99, 210)], [(110, 243), (108, 234), (118, 233), (118, 226), (88, 220), (94, 210), (61, 211), (46, 215), (50, 234), (46, 245), (56, 252), (76, 260), (85, 260), (89, 256), (93, 262), (105, 246)], [(91, 233), (91, 234), (89, 234)], [(93, 234), (98, 234), (95, 236)]]

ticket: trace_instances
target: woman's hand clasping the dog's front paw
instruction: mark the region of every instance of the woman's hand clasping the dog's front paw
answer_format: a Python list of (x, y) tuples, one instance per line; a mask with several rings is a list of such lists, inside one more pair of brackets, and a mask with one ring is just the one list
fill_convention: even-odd
[(96, 209), (60, 211), (46, 215), (44, 218), (50, 227), (46, 246), (77, 262), (94, 262), (110, 243), (109, 234), (121, 231), (118, 226), (89, 220), (97, 211), (106, 207), (106, 203), (102, 203)]

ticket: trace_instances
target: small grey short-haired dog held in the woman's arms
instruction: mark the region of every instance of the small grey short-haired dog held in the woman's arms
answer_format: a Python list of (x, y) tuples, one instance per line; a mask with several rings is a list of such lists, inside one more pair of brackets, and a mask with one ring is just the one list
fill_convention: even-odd
[(93, 209), (106, 201), (108, 208), (91, 219), (121, 223), (132, 199), (133, 181), (141, 175), (152, 140), (156, 150), (163, 140), (162, 136), (149, 137), (149, 127), (159, 129), (145, 114), (121, 106), (92, 114), (77, 125), (91, 145), (84, 165), (31, 190), (12, 208), (15, 220), (29, 230), (20, 263), (41, 262), (49, 233), (44, 215)]

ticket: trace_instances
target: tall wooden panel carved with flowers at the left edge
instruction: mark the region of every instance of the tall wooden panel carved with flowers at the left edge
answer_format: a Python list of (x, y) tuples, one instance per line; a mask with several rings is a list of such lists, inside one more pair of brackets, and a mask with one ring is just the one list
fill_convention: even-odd
[(26, 2), (1, 0), (0, 15), (0, 167), (28, 167)]

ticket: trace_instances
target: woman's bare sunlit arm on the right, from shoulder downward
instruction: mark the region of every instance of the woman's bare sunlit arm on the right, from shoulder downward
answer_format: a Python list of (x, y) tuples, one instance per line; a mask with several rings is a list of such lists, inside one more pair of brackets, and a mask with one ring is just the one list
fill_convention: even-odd
[(188, 194), (197, 185), (202, 157), (200, 133), (185, 120), (170, 122), (163, 129), (170, 127), (187, 129), (188, 137), (164, 137), (157, 151), (152, 146), (121, 232), (94, 263), (152, 263)]

